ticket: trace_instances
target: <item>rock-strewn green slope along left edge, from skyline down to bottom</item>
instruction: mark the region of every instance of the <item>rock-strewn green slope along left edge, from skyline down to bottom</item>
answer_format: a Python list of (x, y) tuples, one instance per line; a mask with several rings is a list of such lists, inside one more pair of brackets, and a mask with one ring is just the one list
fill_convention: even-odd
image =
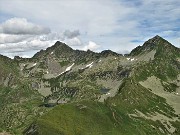
[(22, 131), (40, 115), (41, 95), (20, 75), (18, 62), (0, 56), (0, 131)]

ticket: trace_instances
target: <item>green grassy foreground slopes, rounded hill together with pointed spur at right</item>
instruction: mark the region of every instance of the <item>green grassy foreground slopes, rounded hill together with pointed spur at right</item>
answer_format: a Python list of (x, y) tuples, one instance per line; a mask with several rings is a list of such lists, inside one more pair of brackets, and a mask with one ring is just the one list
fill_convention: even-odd
[[(133, 80), (126, 80), (118, 94), (105, 103), (81, 101), (55, 107), (40, 117), (36, 133), (40, 135), (146, 135), (168, 134), (160, 121), (130, 117), (135, 109), (144, 114), (158, 112), (177, 117), (165, 99), (158, 97)], [(174, 122), (179, 133), (179, 122)], [(163, 129), (162, 133), (159, 128)], [(27, 131), (26, 131), (27, 133)], [(175, 134), (176, 134), (175, 133)]]

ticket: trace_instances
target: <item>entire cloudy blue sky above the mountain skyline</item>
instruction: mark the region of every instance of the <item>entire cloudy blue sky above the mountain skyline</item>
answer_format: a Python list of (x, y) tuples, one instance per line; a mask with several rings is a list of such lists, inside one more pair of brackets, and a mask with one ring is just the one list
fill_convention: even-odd
[(179, 0), (0, 0), (0, 54), (31, 57), (57, 40), (128, 53), (155, 35), (180, 47)]

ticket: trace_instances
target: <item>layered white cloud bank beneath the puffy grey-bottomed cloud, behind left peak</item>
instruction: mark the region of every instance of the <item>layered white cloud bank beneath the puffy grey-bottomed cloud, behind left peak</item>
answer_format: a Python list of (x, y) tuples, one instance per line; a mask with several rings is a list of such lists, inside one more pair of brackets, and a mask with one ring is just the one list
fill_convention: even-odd
[(71, 34), (69, 33), (69, 35), (67, 34), (68, 37), (65, 37), (63, 32), (43, 33), (40, 35), (0, 33), (0, 54), (11, 58), (17, 55), (31, 57), (37, 51), (52, 46), (56, 41), (65, 42), (71, 47), (82, 46), (81, 40), (78, 37), (74, 37), (78, 33), (78, 31), (74, 31)]

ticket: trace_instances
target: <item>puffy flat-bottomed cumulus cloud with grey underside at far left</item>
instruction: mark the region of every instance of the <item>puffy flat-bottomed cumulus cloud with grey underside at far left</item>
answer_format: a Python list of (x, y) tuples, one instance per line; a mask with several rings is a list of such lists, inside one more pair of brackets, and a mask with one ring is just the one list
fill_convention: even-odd
[(0, 32), (4, 34), (48, 34), (50, 29), (28, 22), (25, 18), (11, 18), (0, 24)]

